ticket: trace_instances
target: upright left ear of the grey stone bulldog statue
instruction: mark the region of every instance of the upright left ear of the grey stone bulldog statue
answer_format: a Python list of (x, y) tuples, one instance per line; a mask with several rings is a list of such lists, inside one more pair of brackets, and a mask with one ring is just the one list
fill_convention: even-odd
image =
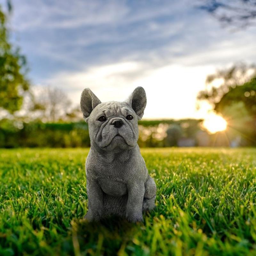
[(95, 108), (101, 101), (95, 96), (95, 94), (89, 89), (85, 88), (81, 94), (80, 107), (83, 112), (85, 122), (88, 122), (93, 108)]

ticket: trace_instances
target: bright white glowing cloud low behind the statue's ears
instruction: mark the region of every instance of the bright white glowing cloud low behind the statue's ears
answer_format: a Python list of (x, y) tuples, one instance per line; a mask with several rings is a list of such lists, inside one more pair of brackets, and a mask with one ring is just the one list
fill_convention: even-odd
[[(195, 117), (196, 95), (204, 88), (205, 74), (211, 66), (167, 65), (152, 69), (147, 63), (121, 62), (89, 68), (82, 72), (59, 73), (45, 84), (66, 91), (75, 104), (89, 87), (101, 101), (123, 101), (137, 87), (147, 93), (144, 118)], [(196, 117), (202, 117), (199, 113)]]

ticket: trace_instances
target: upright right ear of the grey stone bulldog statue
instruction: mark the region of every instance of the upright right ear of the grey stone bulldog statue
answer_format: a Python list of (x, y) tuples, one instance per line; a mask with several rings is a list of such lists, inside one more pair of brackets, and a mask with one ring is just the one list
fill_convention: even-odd
[(145, 90), (140, 86), (135, 88), (132, 94), (124, 102), (132, 107), (138, 117), (138, 120), (140, 120), (144, 114), (144, 109), (147, 104)]

